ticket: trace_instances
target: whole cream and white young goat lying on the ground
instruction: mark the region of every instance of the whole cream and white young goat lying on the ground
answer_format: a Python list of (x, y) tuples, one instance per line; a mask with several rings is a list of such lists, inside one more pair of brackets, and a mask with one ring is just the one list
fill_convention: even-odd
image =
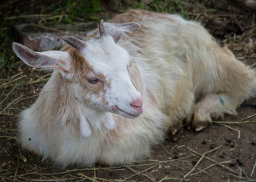
[(63, 167), (132, 163), (185, 118), (202, 130), (254, 95), (254, 70), (176, 15), (130, 10), (83, 41), (63, 39), (60, 51), (13, 43), (27, 65), (54, 69), (21, 113), (19, 141)]

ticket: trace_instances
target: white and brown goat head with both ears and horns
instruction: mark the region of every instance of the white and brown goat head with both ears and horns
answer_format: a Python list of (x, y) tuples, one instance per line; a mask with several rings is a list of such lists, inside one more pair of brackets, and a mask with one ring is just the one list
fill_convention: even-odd
[(139, 27), (135, 22), (101, 21), (97, 38), (81, 41), (64, 36), (63, 40), (73, 48), (34, 52), (13, 42), (13, 50), (28, 66), (59, 70), (63, 81), (72, 83), (77, 100), (85, 106), (136, 118), (143, 112), (143, 101), (130, 81), (129, 53), (116, 42), (126, 32), (136, 32)]

